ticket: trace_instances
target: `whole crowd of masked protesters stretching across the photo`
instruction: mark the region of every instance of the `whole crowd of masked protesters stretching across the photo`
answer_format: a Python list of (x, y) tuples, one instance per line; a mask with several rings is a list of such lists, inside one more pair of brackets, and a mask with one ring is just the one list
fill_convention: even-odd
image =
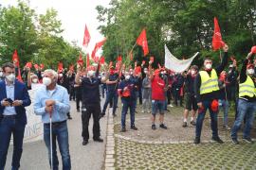
[[(130, 128), (137, 130), (136, 113), (151, 113), (152, 129), (167, 129), (164, 116), (170, 112), (169, 107), (184, 108), (181, 127), (189, 123), (195, 127), (194, 144), (200, 143), (203, 121), (207, 110), (210, 112), (211, 140), (219, 144), (224, 142), (218, 134), (218, 113), (223, 110), (223, 127), (231, 130), (233, 144), (239, 144), (237, 132), (244, 123), (243, 140), (252, 143), (250, 131), (256, 110), (256, 59), (251, 62), (252, 53), (247, 55), (241, 70), (233, 59), (228, 66), (228, 50), (223, 47), (224, 56), (221, 63), (212, 67), (212, 59), (206, 57), (203, 67), (192, 65), (183, 73), (174, 73), (165, 67), (152, 67), (153, 62), (142, 63), (135, 68), (104, 66), (101, 64), (83, 68), (78, 64), (77, 70), (52, 69), (43, 70), (25, 67), (21, 75), (23, 82), (15, 78), (18, 68), (13, 63), (6, 63), (0, 68), (0, 170), (4, 170), (9, 148), (10, 136), (13, 135), (12, 169), (19, 169), (23, 150), (24, 130), (27, 124), (26, 109), (31, 101), (27, 90), (36, 89), (34, 112), (42, 116), (44, 124), (44, 141), (48, 151), (50, 165), (58, 169), (57, 144), (63, 159), (64, 169), (71, 168), (67, 119), (70, 115), (69, 101), (76, 101), (76, 109), (82, 112), (82, 145), (89, 142), (89, 120), (93, 117), (93, 140), (101, 139), (100, 119), (104, 117), (107, 107), (112, 108), (113, 116), (117, 108), (121, 109), (121, 132), (126, 131), (126, 114), (130, 110)], [(227, 69), (227, 71), (225, 71)], [(101, 97), (105, 98), (101, 106)], [(118, 105), (119, 100), (121, 105)], [(137, 103), (141, 110), (137, 110)], [(235, 120), (229, 127), (229, 108), (235, 110)], [(188, 123), (189, 112), (191, 121)], [(159, 126), (155, 125), (159, 113)], [(50, 122), (50, 119), (52, 122)], [(229, 124), (228, 124), (229, 123)], [(50, 124), (52, 124), (52, 156), (50, 144)], [(51, 158), (52, 157), (52, 158)]]

